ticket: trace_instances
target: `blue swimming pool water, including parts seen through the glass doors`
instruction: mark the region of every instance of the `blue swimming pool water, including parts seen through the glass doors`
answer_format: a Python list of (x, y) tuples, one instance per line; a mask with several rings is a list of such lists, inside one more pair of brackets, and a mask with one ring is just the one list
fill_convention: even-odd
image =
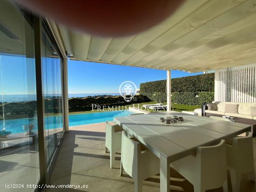
[[(101, 123), (106, 121), (113, 121), (114, 117), (128, 116), (133, 114), (133, 112), (128, 110), (122, 111), (111, 111), (111, 112), (97, 112), (97, 113), (81, 113), (68, 115), (69, 126), (80, 126), (87, 125), (92, 123)], [(59, 122), (62, 122), (61, 116), (49, 116), (45, 118), (46, 129), (57, 129), (62, 127)], [(6, 131), (11, 131), (12, 133), (24, 132), (22, 126), (34, 124), (37, 125), (36, 118), (27, 118), (27, 119), (10, 119), (5, 120)], [(0, 127), (3, 127), (3, 121), (0, 120)], [(37, 128), (34, 129), (34, 131)]]

